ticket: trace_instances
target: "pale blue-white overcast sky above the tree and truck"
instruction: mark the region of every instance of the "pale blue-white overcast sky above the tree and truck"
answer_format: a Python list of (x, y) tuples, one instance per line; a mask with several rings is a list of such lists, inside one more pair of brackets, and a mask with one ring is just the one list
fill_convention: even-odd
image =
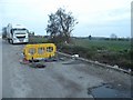
[(0, 28), (25, 26), (35, 34), (47, 34), (48, 14), (58, 8), (71, 11), (79, 24), (73, 36), (131, 37), (132, 0), (0, 0)]

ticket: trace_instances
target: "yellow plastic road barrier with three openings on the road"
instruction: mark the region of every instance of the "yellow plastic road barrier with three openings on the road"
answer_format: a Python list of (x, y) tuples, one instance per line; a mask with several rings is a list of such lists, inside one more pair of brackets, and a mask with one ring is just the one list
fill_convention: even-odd
[(48, 59), (55, 56), (54, 43), (27, 44), (23, 49), (25, 60)]

